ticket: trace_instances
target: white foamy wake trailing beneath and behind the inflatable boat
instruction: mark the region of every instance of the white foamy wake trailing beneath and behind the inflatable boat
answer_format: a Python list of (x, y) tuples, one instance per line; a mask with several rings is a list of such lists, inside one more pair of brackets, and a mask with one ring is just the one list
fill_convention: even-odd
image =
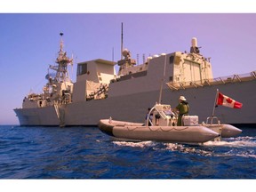
[(208, 141), (204, 145), (188, 145), (179, 143), (159, 143), (156, 141), (113, 141), (120, 147), (152, 148), (196, 156), (241, 156), (256, 159), (256, 137), (237, 137), (221, 141)]

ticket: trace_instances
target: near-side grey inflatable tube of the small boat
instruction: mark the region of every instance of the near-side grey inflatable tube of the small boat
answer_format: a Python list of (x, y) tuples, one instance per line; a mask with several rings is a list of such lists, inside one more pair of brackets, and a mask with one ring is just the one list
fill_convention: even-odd
[(102, 119), (100, 131), (120, 140), (156, 140), (179, 143), (204, 143), (220, 134), (202, 126), (144, 126)]

